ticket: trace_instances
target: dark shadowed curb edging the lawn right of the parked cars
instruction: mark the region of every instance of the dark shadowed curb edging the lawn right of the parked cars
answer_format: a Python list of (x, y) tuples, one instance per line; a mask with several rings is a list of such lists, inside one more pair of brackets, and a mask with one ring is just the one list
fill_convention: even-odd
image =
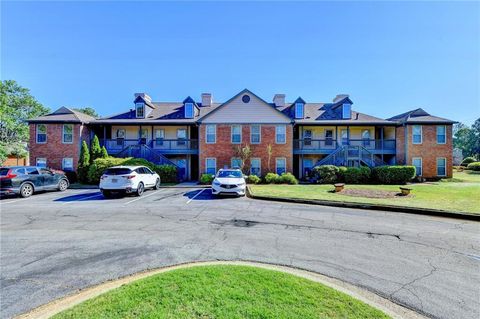
[(418, 215), (428, 215), (428, 216), (448, 217), (448, 218), (457, 218), (457, 219), (480, 221), (480, 214), (479, 215), (474, 215), (474, 214), (469, 214), (469, 213), (455, 213), (455, 212), (450, 212), (450, 211), (446, 211), (446, 210), (439, 210), (439, 209), (417, 208), (417, 207), (406, 207), (406, 206), (392, 206), (392, 205), (379, 205), (379, 204), (364, 204), (364, 203), (353, 203), (353, 202), (340, 202), (340, 201), (329, 201), (329, 200), (320, 200), (320, 199), (300, 199), (300, 198), (257, 196), (257, 195), (252, 194), (249, 186), (247, 186), (247, 196), (252, 198), (252, 199), (275, 201), (275, 202), (284, 202), (284, 203), (309, 204), (309, 205), (321, 205), (321, 206), (344, 207), (344, 208), (360, 208), (360, 209), (370, 209), (370, 210), (383, 210), (383, 211), (390, 211), (390, 212), (400, 212), (400, 213), (409, 213), (409, 214), (418, 214)]

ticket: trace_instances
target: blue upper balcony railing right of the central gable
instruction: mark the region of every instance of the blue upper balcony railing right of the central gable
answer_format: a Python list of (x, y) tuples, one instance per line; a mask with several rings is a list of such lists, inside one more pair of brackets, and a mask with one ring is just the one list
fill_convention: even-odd
[(295, 139), (293, 149), (296, 151), (332, 151), (340, 146), (363, 146), (368, 150), (394, 151), (396, 148), (394, 139)]

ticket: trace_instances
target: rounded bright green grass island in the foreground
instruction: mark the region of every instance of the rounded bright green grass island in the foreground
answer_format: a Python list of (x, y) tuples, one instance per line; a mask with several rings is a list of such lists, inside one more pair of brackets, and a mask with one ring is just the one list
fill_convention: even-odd
[(141, 279), (53, 318), (389, 318), (334, 289), (249, 266), (198, 266)]

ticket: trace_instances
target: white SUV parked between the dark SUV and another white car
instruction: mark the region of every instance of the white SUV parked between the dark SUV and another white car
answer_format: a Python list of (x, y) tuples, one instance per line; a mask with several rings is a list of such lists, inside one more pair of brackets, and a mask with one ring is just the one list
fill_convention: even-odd
[(160, 176), (145, 166), (114, 166), (103, 172), (99, 188), (105, 197), (112, 193), (142, 196), (146, 188), (160, 188)]

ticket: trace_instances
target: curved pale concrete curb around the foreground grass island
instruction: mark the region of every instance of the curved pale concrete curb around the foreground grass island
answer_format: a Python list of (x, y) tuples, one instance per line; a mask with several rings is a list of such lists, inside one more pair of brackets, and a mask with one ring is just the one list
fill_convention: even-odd
[(362, 289), (360, 287), (354, 286), (352, 284), (346, 283), (344, 281), (327, 277), (315, 272), (292, 268), (287, 266), (281, 265), (274, 265), (274, 264), (266, 264), (266, 263), (259, 263), (259, 262), (251, 262), (251, 261), (203, 261), (203, 262), (193, 262), (193, 263), (185, 263), (179, 264), (175, 266), (167, 266), (162, 268), (157, 268), (153, 270), (147, 270), (144, 272), (140, 272), (137, 274), (133, 274), (130, 276), (126, 276), (123, 278), (119, 278), (112, 281), (107, 281), (103, 284), (93, 286), (90, 288), (86, 288), (80, 290), (78, 293), (72, 294), (67, 297), (63, 297), (52, 302), (49, 302), (43, 306), (35, 308), (25, 314), (19, 315), (15, 317), (16, 319), (40, 319), (40, 318), (50, 318), (53, 315), (67, 310), (75, 305), (78, 305), (88, 299), (95, 298), (101, 294), (104, 294), (110, 290), (116, 289), (121, 287), (122, 285), (129, 284), (131, 282), (137, 281), (139, 279), (143, 279), (146, 277), (150, 277), (156, 274), (164, 273), (167, 271), (175, 270), (175, 269), (182, 269), (182, 268), (189, 268), (189, 267), (200, 267), (200, 266), (211, 266), (211, 265), (241, 265), (241, 266), (252, 266), (258, 267), (268, 270), (275, 270), (285, 272), (294, 276), (302, 277), (335, 290), (341, 291), (355, 299), (363, 301), (364, 303), (377, 308), (384, 313), (390, 315), (392, 318), (426, 318), (423, 315), (411, 310), (409, 308), (403, 307), (398, 305), (386, 298), (383, 298), (371, 291)]

